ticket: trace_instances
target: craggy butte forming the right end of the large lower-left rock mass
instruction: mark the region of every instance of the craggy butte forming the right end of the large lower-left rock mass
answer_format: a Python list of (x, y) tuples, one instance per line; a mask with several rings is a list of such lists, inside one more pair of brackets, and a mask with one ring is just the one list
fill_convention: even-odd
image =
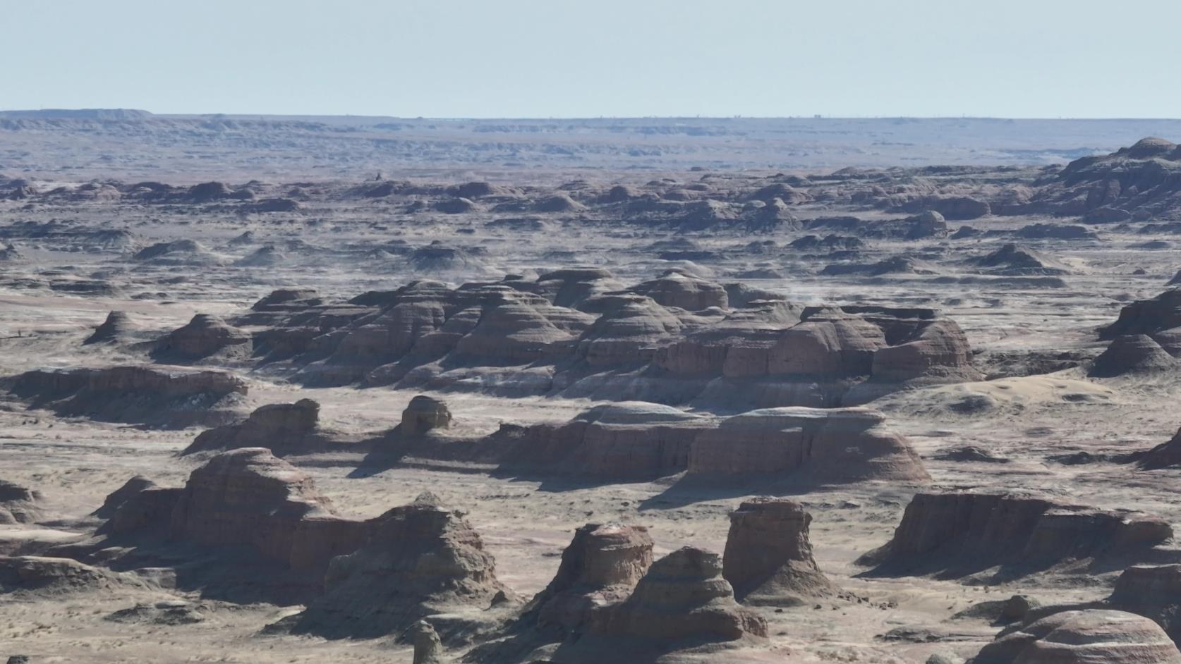
[(487, 610), (510, 594), (463, 515), (420, 499), (374, 519), (364, 546), (333, 558), (325, 593), (292, 626), (327, 638), (374, 638), (426, 616)]

